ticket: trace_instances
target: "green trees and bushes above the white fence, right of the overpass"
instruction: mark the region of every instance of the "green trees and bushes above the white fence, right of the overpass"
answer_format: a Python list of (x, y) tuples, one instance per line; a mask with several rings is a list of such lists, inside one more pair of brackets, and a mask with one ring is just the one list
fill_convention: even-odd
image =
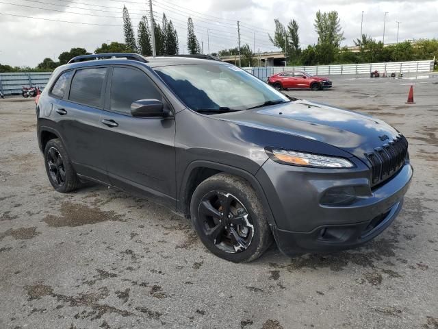
[[(292, 19), (285, 26), (278, 19), (274, 20), (272, 44), (286, 53), (287, 64), (291, 66), (318, 64), (356, 64), (369, 62), (399, 62), (408, 60), (431, 60), (438, 58), (438, 40), (421, 39), (404, 41), (393, 45), (383, 45), (371, 36), (363, 34), (353, 40), (359, 51), (340, 47), (344, 32), (336, 11), (318, 12), (313, 27), (318, 35), (318, 42), (307, 48), (300, 47), (298, 23)], [(435, 62), (437, 69), (437, 62)]]

